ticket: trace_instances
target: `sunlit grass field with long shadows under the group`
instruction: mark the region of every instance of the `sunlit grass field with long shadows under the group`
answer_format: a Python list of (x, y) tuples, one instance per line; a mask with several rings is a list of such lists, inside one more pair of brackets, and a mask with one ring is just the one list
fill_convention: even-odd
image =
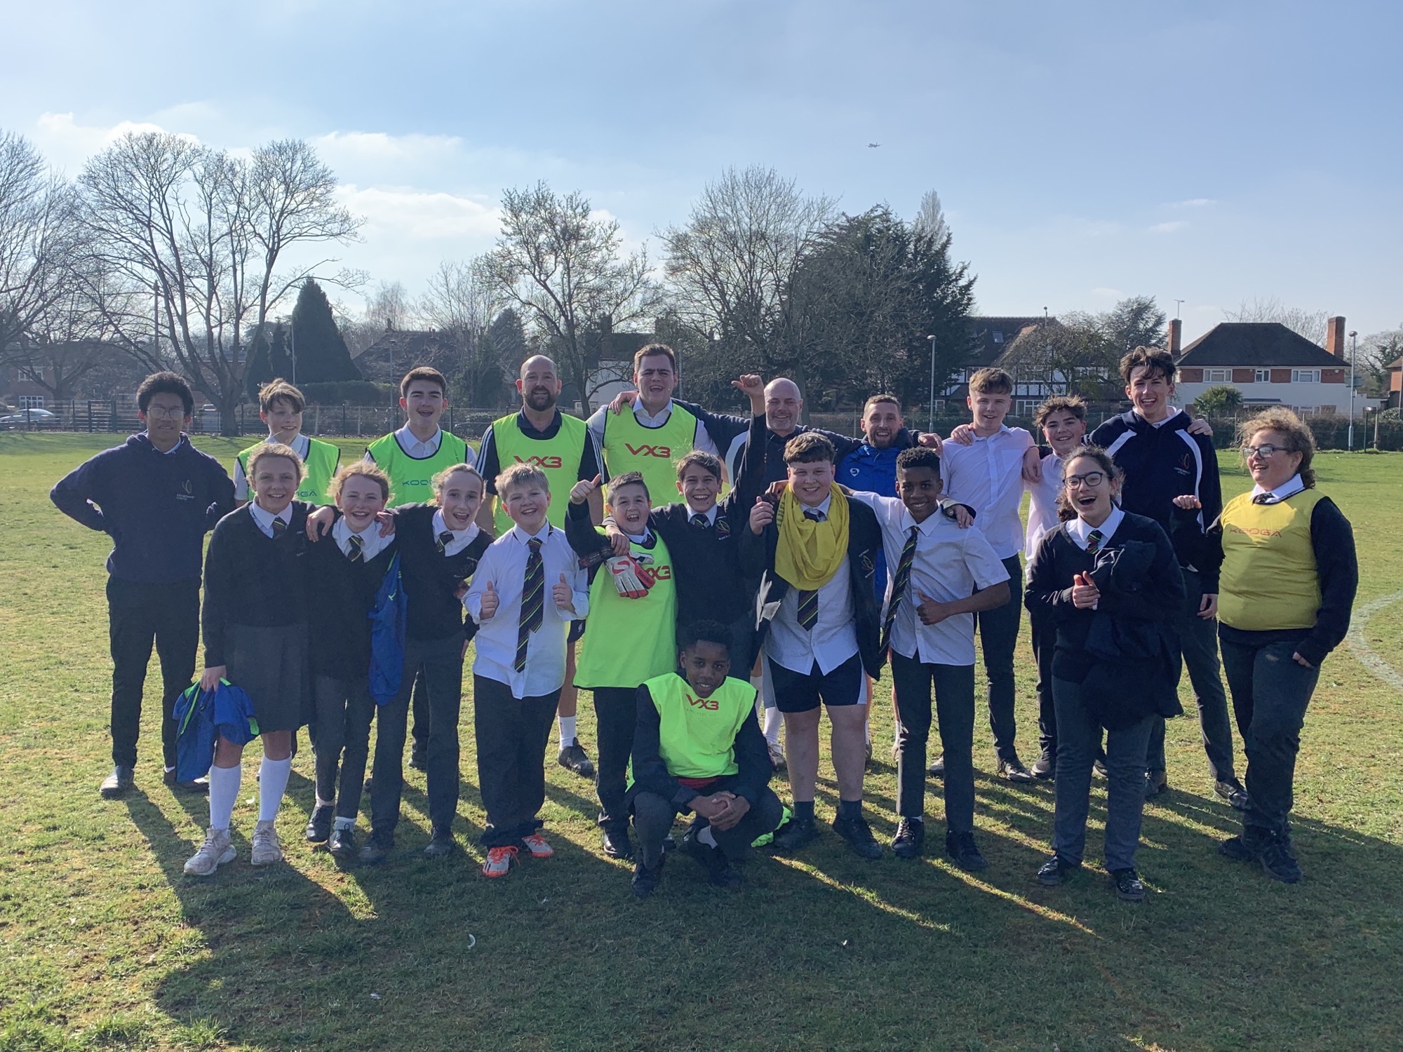
[[(1360, 609), (1378, 609), (1358, 634), (1375, 670), (1337, 651), (1308, 717), (1295, 814), (1306, 881), (1271, 884), (1215, 854), (1235, 815), (1211, 797), (1197, 727), (1177, 720), (1172, 791), (1145, 816), (1150, 895), (1134, 908), (1094, 868), (1061, 889), (1033, 882), (1052, 790), (996, 781), (986, 727), (975, 821), (991, 865), (979, 877), (939, 857), (864, 863), (826, 833), (801, 860), (751, 863), (737, 893), (673, 860), (640, 903), (629, 870), (599, 850), (592, 787), (554, 766), (553, 861), (487, 882), (473, 846), (424, 860), (424, 781), (408, 771), (398, 854), (344, 872), (302, 842), (304, 749), (279, 818), (289, 863), (247, 863), (250, 759), (240, 860), (184, 878), (208, 812), (160, 783), (154, 675), (139, 790), (97, 795), (109, 769), (109, 546), (62, 516), (48, 488), (107, 445), (0, 436), (0, 1049), (1403, 1048), (1403, 602), (1382, 602), (1403, 599), (1400, 454), (1319, 460), (1322, 488), (1354, 523)], [(241, 445), (201, 440), (226, 461)], [(1236, 464), (1223, 468), (1228, 492), (1246, 488)], [(882, 762), (867, 778), (880, 839), (894, 832), (887, 699), (880, 687)], [(470, 706), (467, 844), (483, 823)], [(588, 696), (581, 717), (589, 745)], [(1031, 760), (1026, 644), (1019, 720)], [(825, 821), (836, 807), (828, 767), (818, 807)]]

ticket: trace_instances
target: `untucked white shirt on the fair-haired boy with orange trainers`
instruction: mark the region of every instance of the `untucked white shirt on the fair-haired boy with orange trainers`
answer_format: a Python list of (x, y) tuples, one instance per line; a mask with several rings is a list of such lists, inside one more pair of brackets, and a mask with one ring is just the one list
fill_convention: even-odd
[[(494, 540), (483, 553), (473, 584), (463, 596), (467, 616), (478, 624), (473, 637), (477, 656), (473, 659), (473, 675), (494, 679), (511, 687), (512, 697), (542, 697), (560, 690), (565, 683), (565, 640), (570, 623), (589, 613), (589, 582), (579, 560), (565, 541), (565, 532), (546, 525), (536, 534), (542, 540), (540, 560), (546, 574), (546, 596), (542, 609), (540, 628), (530, 634), (526, 642), (526, 669), (518, 672), (516, 630), (522, 616), (522, 592), (526, 589), (526, 558), (530, 555), (528, 541), (532, 534), (521, 526), (512, 526)], [(551, 598), (551, 589), (565, 575), (570, 585), (574, 613), (561, 610)], [(483, 620), (483, 593), (487, 584), (497, 593), (497, 613)]]

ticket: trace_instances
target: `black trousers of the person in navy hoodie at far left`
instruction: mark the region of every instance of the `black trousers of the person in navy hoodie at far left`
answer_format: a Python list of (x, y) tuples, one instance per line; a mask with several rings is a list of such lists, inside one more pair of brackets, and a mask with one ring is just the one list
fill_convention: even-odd
[(107, 579), (108, 635), (112, 647), (112, 763), (136, 766), (142, 729), (142, 687), (152, 642), (161, 662), (161, 753), (175, 766), (175, 699), (195, 679), (199, 645), (199, 581), (143, 584)]

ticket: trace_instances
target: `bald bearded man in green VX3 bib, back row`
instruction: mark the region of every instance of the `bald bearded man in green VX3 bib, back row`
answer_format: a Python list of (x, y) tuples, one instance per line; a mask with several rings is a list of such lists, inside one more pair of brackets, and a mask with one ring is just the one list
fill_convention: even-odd
[[(497, 495), (495, 478), (512, 464), (532, 464), (544, 471), (550, 483), (550, 509), (546, 518), (556, 529), (565, 527), (570, 490), (578, 481), (589, 481), (600, 474), (599, 452), (585, 422), (556, 408), (560, 397), (560, 370), (544, 355), (533, 355), (522, 362), (516, 390), (522, 408), (492, 421), (477, 450), (477, 470), (487, 480), (487, 492)], [(589, 518), (598, 525), (603, 518), (603, 498), (599, 491), (589, 497)], [(478, 526), (501, 536), (512, 529), (512, 520), (501, 506), (501, 498), (477, 512)], [(565, 686), (560, 692), (557, 724), (560, 727), (560, 766), (582, 778), (595, 776), (595, 766), (575, 736), (575, 641), (584, 621), (575, 621), (570, 631), (565, 662)]]

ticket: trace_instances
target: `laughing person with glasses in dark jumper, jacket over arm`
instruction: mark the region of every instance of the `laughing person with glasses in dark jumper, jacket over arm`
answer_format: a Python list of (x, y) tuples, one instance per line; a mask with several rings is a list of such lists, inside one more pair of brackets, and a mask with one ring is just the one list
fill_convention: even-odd
[(1183, 710), (1179, 651), (1169, 621), (1184, 599), (1179, 560), (1153, 519), (1115, 506), (1121, 473), (1099, 446), (1062, 466), (1062, 525), (1042, 534), (1024, 602), (1056, 626), (1056, 804), (1052, 857), (1038, 870), (1055, 886), (1082, 865), (1092, 763), (1106, 738), (1104, 864), (1118, 898), (1142, 902), (1135, 870), (1145, 805), (1145, 753), (1156, 715)]

